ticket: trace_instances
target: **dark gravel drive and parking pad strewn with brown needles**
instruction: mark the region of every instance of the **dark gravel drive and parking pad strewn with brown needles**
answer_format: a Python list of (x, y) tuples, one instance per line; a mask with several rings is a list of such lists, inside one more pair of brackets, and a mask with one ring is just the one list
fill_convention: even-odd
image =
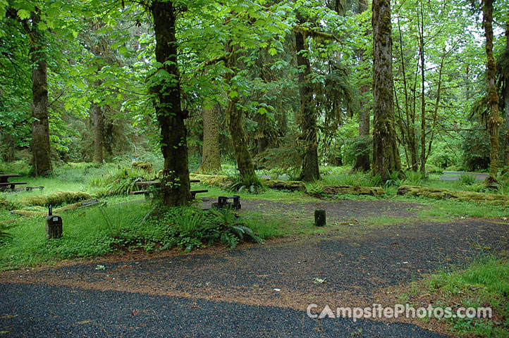
[[(407, 218), (422, 207), (397, 201), (284, 206), (243, 201), (245, 210), (258, 206), (288, 215), (325, 208), (328, 218), (338, 220), (384, 211)], [(0, 274), (0, 332), (8, 337), (441, 337), (443, 327), (431, 321), (314, 320), (306, 308), (310, 303), (370, 306), (379, 301), (380, 289), (464, 265), (479, 248), (509, 249), (508, 236), (508, 224), (494, 220), (416, 219), (362, 236), (330, 233), (233, 250), (130, 253), (7, 271)]]

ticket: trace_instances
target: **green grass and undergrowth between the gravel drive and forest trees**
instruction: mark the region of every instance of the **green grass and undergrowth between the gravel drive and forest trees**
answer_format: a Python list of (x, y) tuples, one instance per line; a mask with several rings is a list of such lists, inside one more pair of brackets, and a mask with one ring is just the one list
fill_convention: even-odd
[[(127, 169), (125, 169), (127, 168)], [(244, 213), (238, 222), (236, 220), (219, 220), (216, 218), (211, 227), (211, 215), (195, 216), (196, 211), (183, 211), (187, 218), (181, 218), (176, 214), (153, 214), (142, 226), (142, 218), (152, 209), (152, 204), (145, 202), (143, 197), (126, 195), (133, 186), (134, 180), (143, 177), (143, 173), (129, 167), (119, 168), (119, 165), (108, 164), (97, 166), (90, 163), (70, 163), (55, 170), (54, 177), (33, 178), (19, 177), (19, 181), (26, 181), (31, 186), (44, 186), (39, 192), (1, 192), (0, 199), (7, 199), (14, 204), (20, 205), (21, 201), (27, 200), (30, 196), (40, 196), (54, 192), (88, 192), (96, 194), (102, 201), (107, 202), (106, 207), (98, 206), (80, 209), (78, 211), (66, 211), (61, 214), (64, 224), (64, 236), (62, 239), (45, 239), (44, 218), (42, 217), (20, 217), (13, 215), (0, 207), (0, 268), (19, 268), (24, 265), (38, 265), (51, 261), (65, 260), (70, 258), (87, 258), (92, 256), (103, 256), (123, 250), (160, 250), (171, 246), (179, 246), (192, 249), (196, 246), (220, 242), (228, 246), (235, 244), (237, 239), (246, 236), (252, 230), (252, 236), (260, 239), (274, 237), (298, 237), (314, 234), (335, 232), (337, 234), (362, 234), (364, 231), (374, 227), (384, 227), (395, 223), (409, 223), (410, 220), (401, 220), (391, 217), (367, 217), (343, 222), (333, 222), (325, 227), (314, 227), (312, 215), (307, 213), (281, 212), (278, 214), (266, 215), (262, 211)], [(224, 169), (231, 173), (233, 166), (224, 166)], [(1, 168), (7, 173), (26, 173), (27, 168), (16, 165), (12, 168)], [(24, 171), (25, 170), (25, 171)], [(229, 171), (228, 171), (229, 170)], [(350, 168), (347, 167), (324, 167), (321, 173), (324, 179), (319, 182), (306, 184), (307, 189), (313, 189), (320, 184), (366, 184), (372, 185), (376, 177), (368, 177), (367, 174), (348, 175)], [(150, 174), (148, 174), (150, 175)], [(144, 178), (146, 179), (146, 177)], [(388, 199), (394, 201), (413, 202), (424, 204), (426, 207), (419, 211), (418, 218), (430, 221), (447, 221), (462, 217), (509, 217), (509, 211), (503, 206), (496, 206), (486, 203), (467, 203), (460, 201), (436, 201), (419, 198), (408, 198), (395, 196), (395, 189), (398, 182), (421, 180), (419, 175), (407, 175), (402, 181), (388, 184), (384, 189), (383, 196), (357, 196), (341, 195), (333, 196), (331, 199), (350, 199), (372, 201)], [(467, 178), (464, 179), (469, 180)], [(450, 187), (460, 182), (439, 181), (443, 186)], [(470, 181), (469, 181), (470, 182)], [(465, 184), (465, 182), (463, 182)], [(472, 186), (474, 182), (470, 182)], [(117, 196), (106, 196), (104, 191), (118, 190)], [(216, 198), (217, 196), (231, 196), (233, 192), (226, 192), (219, 187), (209, 187), (204, 184), (192, 184), (192, 189), (208, 189), (209, 193), (204, 196)], [(258, 194), (247, 192), (235, 193), (241, 199), (255, 199), (278, 201), (284, 203), (302, 203), (306, 201), (320, 201), (317, 198), (308, 196), (302, 192), (286, 192), (272, 189), (264, 189)], [(29, 207), (25, 207), (30, 209)], [(31, 207), (34, 208), (34, 207)], [(304, 204), (302, 208), (305, 208)], [(38, 209), (39, 210), (39, 209)], [(190, 208), (190, 210), (195, 210)], [(198, 212), (200, 213), (200, 212)], [(216, 215), (217, 216), (217, 215)], [(200, 220), (200, 222), (197, 222)], [(227, 223), (224, 225), (224, 223)], [(178, 225), (180, 224), (180, 225)], [(194, 224), (194, 228), (187, 227)], [(218, 225), (223, 224), (223, 225)], [(243, 227), (246, 227), (245, 229)], [(234, 229), (235, 230), (231, 230)], [(211, 230), (214, 228), (215, 230)], [(180, 230), (179, 230), (180, 229)], [(194, 229), (194, 230), (193, 230)], [(219, 229), (219, 230), (218, 230)], [(250, 230), (247, 230), (250, 229)], [(226, 237), (217, 237), (217, 234), (225, 233)], [(238, 231), (238, 232), (235, 232)], [(12, 238), (10, 238), (12, 237)], [(4, 244), (6, 242), (6, 244)]]

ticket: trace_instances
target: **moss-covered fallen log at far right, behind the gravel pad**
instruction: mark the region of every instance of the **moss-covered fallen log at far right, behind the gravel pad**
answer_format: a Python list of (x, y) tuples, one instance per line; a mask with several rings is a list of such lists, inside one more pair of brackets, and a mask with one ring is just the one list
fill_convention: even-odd
[(445, 188), (402, 185), (396, 191), (398, 195), (419, 196), (428, 199), (457, 199), (459, 201), (509, 201), (509, 196), (484, 194), (482, 192), (453, 192)]

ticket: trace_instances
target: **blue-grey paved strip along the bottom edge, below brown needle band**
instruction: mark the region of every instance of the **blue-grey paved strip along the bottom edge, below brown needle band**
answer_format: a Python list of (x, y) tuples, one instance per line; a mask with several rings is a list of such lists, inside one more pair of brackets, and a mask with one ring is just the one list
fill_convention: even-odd
[(130, 292), (0, 284), (2, 337), (443, 337), (415, 325)]

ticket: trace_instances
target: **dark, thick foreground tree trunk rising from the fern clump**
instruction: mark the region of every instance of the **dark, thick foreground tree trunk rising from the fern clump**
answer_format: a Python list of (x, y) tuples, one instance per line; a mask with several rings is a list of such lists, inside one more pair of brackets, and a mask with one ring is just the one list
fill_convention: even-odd
[(181, 206), (191, 200), (188, 167), (187, 112), (180, 106), (180, 80), (177, 65), (176, 8), (173, 2), (154, 1), (156, 61), (164, 71), (159, 83), (152, 87), (157, 120), (161, 127), (161, 151), (164, 156), (161, 194), (165, 206)]

